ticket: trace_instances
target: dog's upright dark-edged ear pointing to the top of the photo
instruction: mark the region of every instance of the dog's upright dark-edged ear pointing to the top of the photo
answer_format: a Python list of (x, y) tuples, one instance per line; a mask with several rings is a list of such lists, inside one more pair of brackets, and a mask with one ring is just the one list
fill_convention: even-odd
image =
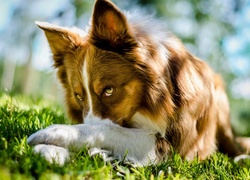
[(126, 16), (109, 0), (96, 1), (90, 38), (99, 48), (113, 51), (124, 51), (135, 45)]

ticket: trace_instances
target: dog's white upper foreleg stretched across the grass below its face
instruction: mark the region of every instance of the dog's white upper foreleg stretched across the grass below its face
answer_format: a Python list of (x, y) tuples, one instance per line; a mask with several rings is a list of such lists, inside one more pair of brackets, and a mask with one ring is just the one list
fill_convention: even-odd
[[(137, 165), (156, 163), (158, 160), (154, 134), (124, 128), (109, 120), (96, 124), (52, 125), (32, 134), (28, 143), (53, 145), (73, 152), (80, 151), (84, 146), (101, 148), (112, 151), (119, 160), (123, 160), (127, 154), (125, 160)], [(38, 152), (44, 154), (45, 151)]]

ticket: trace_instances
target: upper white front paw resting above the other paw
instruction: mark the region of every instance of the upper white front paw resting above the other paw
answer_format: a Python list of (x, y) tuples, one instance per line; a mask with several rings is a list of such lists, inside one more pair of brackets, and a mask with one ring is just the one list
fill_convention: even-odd
[(77, 131), (72, 126), (51, 125), (32, 134), (28, 138), (28, 144), (33, 146), (37, 144), (51, 144), (68, 148), (77, 136)]

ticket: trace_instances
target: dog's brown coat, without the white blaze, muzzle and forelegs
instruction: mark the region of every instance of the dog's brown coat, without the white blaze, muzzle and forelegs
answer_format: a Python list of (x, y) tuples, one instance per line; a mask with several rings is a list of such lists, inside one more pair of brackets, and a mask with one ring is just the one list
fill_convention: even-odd
[[(88, 61), (95, 115), (136, 128), (141, 127), (135, 113), (148, 117), (157, 129), (160, 157), (169, 154), (170, 147), (187, 159), (205, 159), (217, 147), (230, 156), (242, 153), (232, 133), (221, 78), (173, 35), (155, 38), (106, 0), (96, 1), (86, 35), (76, 29), (40, 27), (74, 122), (82, 123), (89, 110), (82, 78)], [(111, 97), (104, 94), (107, 87), (114, 88)]]

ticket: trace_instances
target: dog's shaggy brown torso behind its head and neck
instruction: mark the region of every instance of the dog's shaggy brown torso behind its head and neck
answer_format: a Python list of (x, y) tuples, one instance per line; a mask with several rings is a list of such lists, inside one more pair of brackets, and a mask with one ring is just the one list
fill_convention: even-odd
[(165, 138), (187, 159), (205, 159), (217, 149), (232, 157), (244, 153), (235, 141), (221, 77), (182, 45), (167, 47), (175, 110)]

